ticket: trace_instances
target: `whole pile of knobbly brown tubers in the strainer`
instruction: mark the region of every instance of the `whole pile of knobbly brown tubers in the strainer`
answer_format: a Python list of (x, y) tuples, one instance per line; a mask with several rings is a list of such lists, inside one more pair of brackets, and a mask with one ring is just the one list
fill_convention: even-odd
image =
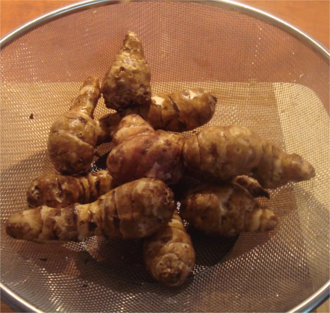
[[(275, 229), (276, 214), (256, 197), (311, 179), (312, 165), (239, 125), (178, 134), (209, 122), (216, 98), (203, 89), (152, 96), (150, 80), (141, 40), (129, 32), (101, 87), (88, 77), (70, 111), (51, 126), (48, 152), (60, 174), (33, 180), (30, 208), (8, 219), (8, 235), (40, 243), (142, 239), (147, 271), (175, 287), (195, 265), (182, 219), (209, 236)], [(101, 93), (117, 112), (94, 121)], [(86, 173), (96, 146), (111, 141), (106, 169)], [(178, 212), (171, 187), (186, 176), (199, 185), (184, 190)]]

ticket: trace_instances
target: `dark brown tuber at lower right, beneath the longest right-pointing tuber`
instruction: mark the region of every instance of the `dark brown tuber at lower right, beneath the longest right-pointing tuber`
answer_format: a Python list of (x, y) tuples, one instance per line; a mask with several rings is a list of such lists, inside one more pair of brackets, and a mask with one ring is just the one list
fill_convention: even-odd
[(261, 207), (245, 188), (228, 181), (189, 189), (181, 200), (180, 214), (213, 236), (267, 232), (278, 224), (273, 211)]

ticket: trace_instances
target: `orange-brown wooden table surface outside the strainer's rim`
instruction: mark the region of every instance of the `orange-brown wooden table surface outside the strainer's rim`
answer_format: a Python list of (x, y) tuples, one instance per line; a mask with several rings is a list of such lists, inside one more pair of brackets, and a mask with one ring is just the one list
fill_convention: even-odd
[[(40, 15), (76, 2), (71, 0), (1, 0), (0, 36), (5, 36)], [(292, 24), (329, 49), (329, 0), (242, 0), (238, 2), (268, 12)], [(0, 311), (15, 312), (4, 301), (1, 301)], [(319, 306), (316, 311), (329, 312), (329, 300)]]

